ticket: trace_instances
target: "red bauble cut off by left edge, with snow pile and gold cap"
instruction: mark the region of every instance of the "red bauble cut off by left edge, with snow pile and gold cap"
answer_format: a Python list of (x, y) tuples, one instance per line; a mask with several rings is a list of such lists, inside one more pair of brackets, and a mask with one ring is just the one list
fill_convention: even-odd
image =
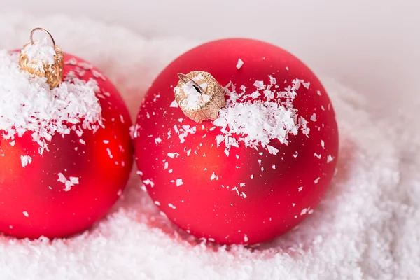
[(50, 42), (25, 45), (18, 59), (0, 52), (0, 232), (73, 235), (125, 188), (130, 115), (102, 73)]

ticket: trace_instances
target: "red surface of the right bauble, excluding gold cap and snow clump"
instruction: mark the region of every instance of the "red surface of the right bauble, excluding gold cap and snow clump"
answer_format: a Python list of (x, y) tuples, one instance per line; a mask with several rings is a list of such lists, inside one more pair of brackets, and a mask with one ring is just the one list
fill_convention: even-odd
[[(197, 124), (174, 107), (177, 73), (190, 71), (207, 71), (222, 86), (231, 81), (237, 92), (244, 85), (249, 94), (269, 76), (279, 90), (304, 80), (293, 107), (309, 134), (290, 134), (287, 145), (272, 140), (276, 155), (240, 141), (225, 155), (213, 120)], [(180, 141), (183, 125), (197, 132)], [(335, 113), (318, 78), (285, 50), (249, 39), (205, 43), (169, 64), (146, 94), (135, 137), (139, 174), (155, 204), (183, 230), (221, 244), (255, 244), (295, 227), (320, 202), (337, 161)]]

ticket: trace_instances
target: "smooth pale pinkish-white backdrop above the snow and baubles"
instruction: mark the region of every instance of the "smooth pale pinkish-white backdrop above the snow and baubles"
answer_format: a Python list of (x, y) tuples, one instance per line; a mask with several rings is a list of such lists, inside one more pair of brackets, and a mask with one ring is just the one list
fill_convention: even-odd
[(395, 104), (409, 95), (405, 92), (420, 89), (416, 0), (0, 0), (0, 7), (85, 15), (148, 37), (259, 38), (295, 53), (316, 71), (370, 92), (372, 106)]

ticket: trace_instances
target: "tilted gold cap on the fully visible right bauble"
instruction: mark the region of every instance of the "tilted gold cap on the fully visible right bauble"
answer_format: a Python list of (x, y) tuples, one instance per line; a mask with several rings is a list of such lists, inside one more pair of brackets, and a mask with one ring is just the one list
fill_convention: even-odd
[(218, 112), (226, 106), (225, 91), (210, 73), (192, 71), (178, 74), (175, 100), (183, 113), (197, 123), (216, 120)]

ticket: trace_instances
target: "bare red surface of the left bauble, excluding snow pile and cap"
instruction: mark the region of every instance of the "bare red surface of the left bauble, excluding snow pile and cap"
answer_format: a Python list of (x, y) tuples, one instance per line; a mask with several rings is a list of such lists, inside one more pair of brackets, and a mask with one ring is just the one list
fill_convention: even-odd
[[(31, 132), (14, 141), (0, 137), (0, 232), (6, 235), (52, 238), (85, 230), (118, 200), (130, 174), (132, 123), (118, 90), (83, 59), (64, 59), (64, 78), (73, 72), (97, 81), (104, 126), (57, 133), (42, 155)], [(25, 167), (22, 155), (31, 157)]]

